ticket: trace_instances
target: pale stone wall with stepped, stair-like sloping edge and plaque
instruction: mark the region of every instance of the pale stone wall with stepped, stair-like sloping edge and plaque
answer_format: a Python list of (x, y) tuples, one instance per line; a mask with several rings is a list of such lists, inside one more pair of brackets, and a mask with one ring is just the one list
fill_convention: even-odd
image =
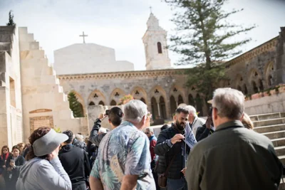
[(26, 27), (19, 28), (19, 37), (25, 141), (38, 127), (87, 134), (88, 117), (73, 118), (67, 96), (33, 34)]

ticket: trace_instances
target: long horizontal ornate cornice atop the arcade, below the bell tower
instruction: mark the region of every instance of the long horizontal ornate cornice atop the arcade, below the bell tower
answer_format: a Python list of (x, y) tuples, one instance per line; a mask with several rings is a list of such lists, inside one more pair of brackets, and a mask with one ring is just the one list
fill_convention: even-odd
[(74, 75), (58, 75), (59, 80), (105, 80), (105, 79), (125, 79), (125, 78), (145, 78), (145, 77), (162, 77), (172, 75), (182, 75), (185, 69), (166, 69), (166, 70), (140, 70), (125, 71), (115, 73), (89, 73)]

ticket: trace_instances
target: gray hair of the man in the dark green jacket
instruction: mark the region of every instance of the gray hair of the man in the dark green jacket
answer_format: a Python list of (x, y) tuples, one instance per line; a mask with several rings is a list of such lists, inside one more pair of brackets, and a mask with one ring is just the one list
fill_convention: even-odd
[(244, 95), (232, 88), (214, 90), (212, 107), (216, 107), (219, 117), (239, 120), (244, 113)]

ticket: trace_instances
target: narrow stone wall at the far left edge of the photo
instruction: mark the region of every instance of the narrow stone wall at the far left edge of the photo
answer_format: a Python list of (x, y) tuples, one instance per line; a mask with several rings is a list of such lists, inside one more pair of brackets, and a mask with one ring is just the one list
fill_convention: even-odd
[(0, 147), (23, 142), (19, 36), (14, 26), (0, 26)]

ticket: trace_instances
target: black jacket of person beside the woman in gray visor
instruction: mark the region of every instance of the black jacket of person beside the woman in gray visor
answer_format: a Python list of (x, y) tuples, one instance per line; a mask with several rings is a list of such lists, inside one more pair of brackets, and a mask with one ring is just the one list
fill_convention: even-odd
[(90, 164), (86, 152), (68, 144), (58, 152), (63, 168), (66, 170), (73, 186), (85, 184), (90, 174)]

